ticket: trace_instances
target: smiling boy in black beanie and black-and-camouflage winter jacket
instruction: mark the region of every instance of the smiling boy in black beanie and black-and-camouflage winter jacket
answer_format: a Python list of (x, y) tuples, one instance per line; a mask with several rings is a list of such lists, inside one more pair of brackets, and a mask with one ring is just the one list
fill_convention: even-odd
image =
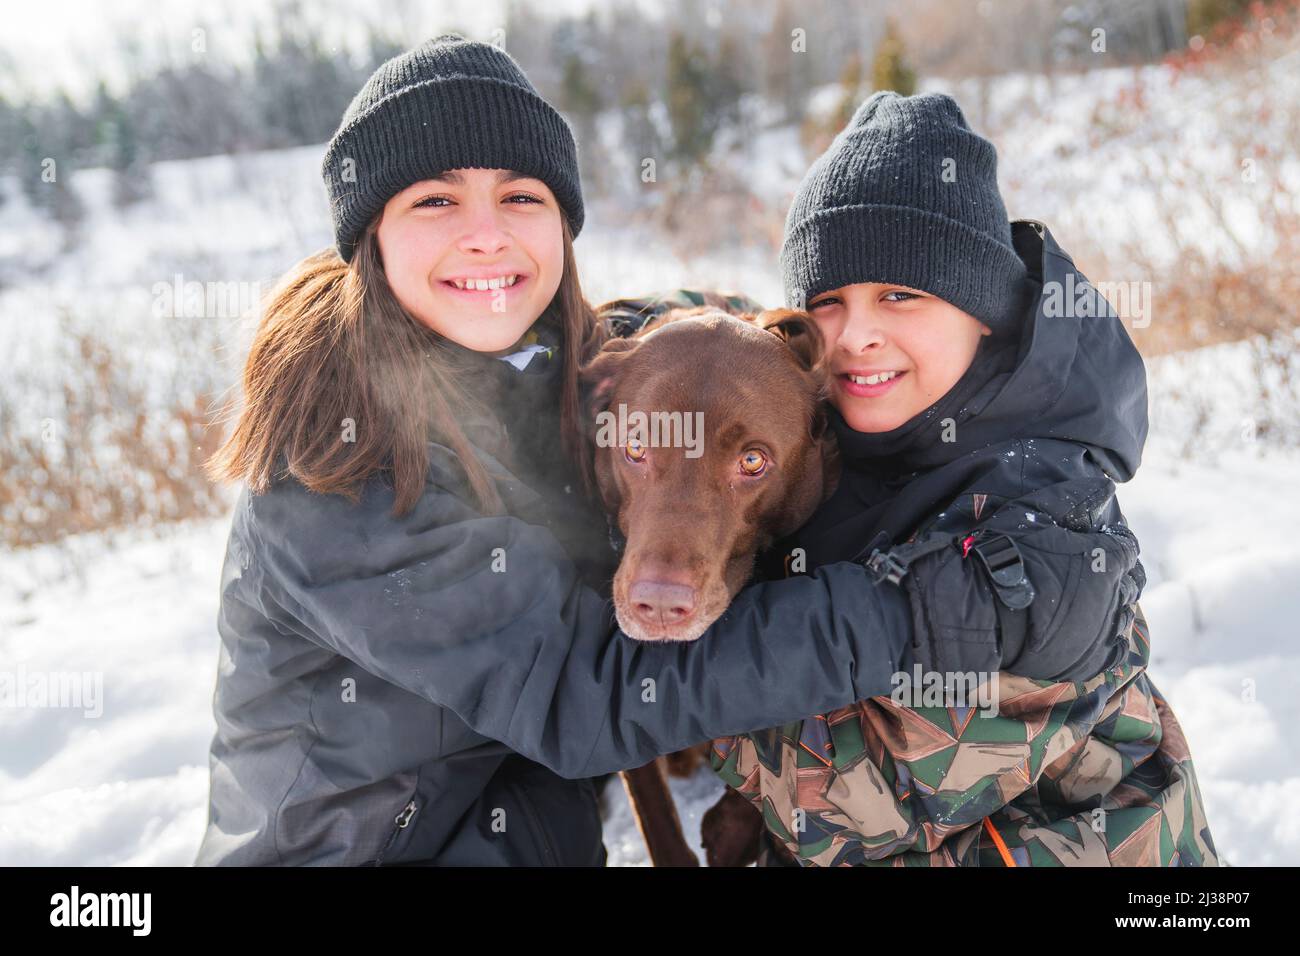
[[(1044, 226), (1008, 222), (992, 144), (940, 95), (858, 109), (800, 186), (781, 263), (831, 347), (845, 466), (785, 548), (809, 567), (871, 554), (923, 644), (1122, 640), (1084, 683), (984, 679), (992, 709), (924, 706), (913, 682), (716, 741), (714, 767), (766, 809), (770, 856), (1217, 865), (1186, 740), (1145, 674), (1145, 579), (1112, 481), (1141, 457), (1145, 371), (1118, 316)], [(1065, 289), (1091, 291), (1061, 315)]]

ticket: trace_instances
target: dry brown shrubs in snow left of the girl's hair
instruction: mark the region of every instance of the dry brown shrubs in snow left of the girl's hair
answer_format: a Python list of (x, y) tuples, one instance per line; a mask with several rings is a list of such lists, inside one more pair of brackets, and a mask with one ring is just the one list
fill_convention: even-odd
[(168, 320), (156, 349), (124, 346), (64, 306), (49, 365), (0, 380), (0, 542), (220, 514), (203, 475), (221, 386), (211, 321)]

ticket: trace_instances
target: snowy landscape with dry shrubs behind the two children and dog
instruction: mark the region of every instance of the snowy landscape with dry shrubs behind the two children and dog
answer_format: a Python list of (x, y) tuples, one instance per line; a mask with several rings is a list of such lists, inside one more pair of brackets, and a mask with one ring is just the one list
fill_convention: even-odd
[[(287, 7), (299, 20), (280, 26), (311, 22), (307, 5)], [(546, 47), (533, 30), (516, 52), (517, 31), (504, 36), (530, 75), (551, 77), (554, 88), (538, 85), (567, 99), (578, 130), (589, 198), (576, 250), (593, 302), (688, 286), (779, 304), (785, 206), (844, 105), (870, 92), (872, 51), (888, 30), (904, 51), (894, 66), (911, 57), (915, 88), (950, 92), (997, 143), (1013, 217), (1046, 222), (1095, 281), (1149, 284), (1149, 308), (1131, 328), (1148, 362), (1152, 434), (1141, 471), (1119, 489), (1149, 576), (1149, 672), (1186, 731), (1222, 858), (1300, 864), (1290, 812), (1300, 803), (1300, 741), (1286, 730), (1300, 718), (1295, 4), (1226, 4), (1240, 9), (1218, 33), (1110, 59), (1071, 51), (1089, 49), (1092, 23), (1140, 4), (1032, 7), (1069, 26), (1043, 34), (1052, 57), (962, 49), (971, 64), (961, 66), (949, 51), (958, 66), (945, 72), (944, 57), (926, 53), (931, 34), (939, 44), (961, 33), (953, 23), (927, 33), (945, 23), (928, 20), (942, 5), (904, 14), (857, 4), (842, 16), (861, 60), (810, 72), (793, 104), (766, 75), (729, 92), (697, 90), (705, 99), (685, 107), (686, 94), (673, 99), (676, 87), (660, 92), (653, 77), (641, 99), (606, 101), (590, 91), (610, 96), (602, 70), (614, 55), (592, 55), (573, 36), (608, 23), (585, 9), (571, 14), (571, 46)], [(685, 56), (702, 77), (722, 70), (736, 10), (712, 8), (716, 22), (660, 12), (656, 49)], [(994, 16), (982, 8), (949, 5)], [(391, 9), (411, 18), (411, 42), (452, 27), (491, 39), (486, 21), (468, 29), (477, 22), (468, 14), (434, 23)], [(746, 29), (784, 46), (800, 10), (763, 9), (770, 21)], [(887, 30), (889, 13), (898, 18)], [(537, 14), (515, 5), (511, 16), (533, 23)], [(686, 21), (698, 49), (673, 53), (670, 35)], [(564, 22), (551, 21), (546, 36)], [(1131, 33), (1131, 23), (1113, 31)], [(818, 36), (809, 31), (814, 51)], [(757, 40), (738, 43), (744, 59)], [(573, 55), (578, 66), (566, 59), (575, 49), (586, 51)], [(998, 57), (1019, 69), (987, 66)], [(77, 153), (103, 164), (60, 164), (52, 196), (30, 182), (44, 157), (32, 117), (62, 113), (30, 108), (44, 94), (16, 87), (16, 75), (10, 68), (0, 85), (0, 143), (22, 142), (4, 151), (0, 172), (0, 669), (99, 674), (103, 697), (96, 715), (0, 708), (0, 864), (186, 865), (207, 819), (233, 499), (198, 466), (221, 433), (257, 298), (332, 242), (318, 172), (328, 131), (307, 144), (157, 159), (124, 146), (122, 130), (135, 127), (122, 120), (100, 153), (95, 139)], [(87, 114), (95, 95), (82, 100)], [(129, 105), (114, 95), (100, 107)], [(708, 135), (684, 127), (707, 96), (727, 95), (734, 109)], [(647, 156), (662, 159), (654, 182), (642, 178)], [(722, 784), (701, 770), (673, 788), (698, 840)], [(604, 803), (610, 862), (645, 865), (621, 788)]]

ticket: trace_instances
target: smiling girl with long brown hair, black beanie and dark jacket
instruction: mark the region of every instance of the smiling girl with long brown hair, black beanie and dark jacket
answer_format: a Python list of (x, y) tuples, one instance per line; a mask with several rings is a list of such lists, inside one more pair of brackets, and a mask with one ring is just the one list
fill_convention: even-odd
[[(848, 562), (746, 589), (706, 646), (618, 636), (572, 464), (604, 334), (576, 150), (504, 52), (442, 36), (384, 64), (322, 173), (337, 252), (277, 289), (212, 464), (246, 488), (199, 864), (601, 865), (582, 778), (936, 666)], [(1072, 649), (1080, 676), (1097, 653)]]

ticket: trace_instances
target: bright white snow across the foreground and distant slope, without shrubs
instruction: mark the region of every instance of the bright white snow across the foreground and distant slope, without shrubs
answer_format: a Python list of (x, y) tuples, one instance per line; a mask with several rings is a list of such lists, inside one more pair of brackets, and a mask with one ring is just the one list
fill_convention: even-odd
[[(1000, 87), (994, 112), (1004, 94), (1017, 92), (1015, 82)], [(1080, 98), (1118, 82), (1124, 77), (1088, 78), (1096, 88), (1080, 83), (1056, 95), (1079, 114)], [(1216, 111), (1204, 90), (1156, 82), (1152, 90), (1195, 111), (1204, 120), (1196, 135), (1213, 138), (1205, 124)], [(1048, 221), (1067, 248), (1084, 225), (1093, 241), (1092, 230), (1124, 238), (1141, 219), (1130, 204), (1131, 170), (1096, 156), (1061, 165), (1049, 155), (1061, 134), (1039, 122), (1005, 131), (1004, 143), (1015, 147), (1000, 166), (1011, 213)], [(100, 330), (148, 376), (166, 364), (174, 337), (168, 323), (176, 319), (155, 312), (157, 284), (238, 281), (266, 291), (287, 265), (326, 246), (320, 155), (320, 147), (303, 147), (159, 164), (155, 198), (125, 213), (108, 204), (103, 170), (77, 173), (88, 212), (68, 254), (56, 228), (6, 187), (0, 351), (32, 382), (10, 401), (39, 406), (42, 377), (46, 388), (58, 386), (61, 311)], [(728, 161), (749, 163), (751, 181), (774, 202), (802, 173), (793, 129), (767, 130), (757, 148)], [(1056, 176), (1044, 172), (1049, 166)], [(1088, 196), (1086, 209), (1074, 204), (1078, 196)], [(718, 250), (684, 259), (595, 200), (576, 248), (595, 302), (681, 285), (779, 302), (775, 258)], [(209, 319), (224, 349), (213, 375), (230, 380), (250, 325), (237, 315), (203, 321)], [(1242, 343), (1149, 368), (1153, 437), (1119, 501), (1149, 575), (1141, 604), (1152, 627), (1150, 674), (1187, 734), (1225, 862), (1300, 865), (1300, 821), (1291, 812), (1300, 804), (1300, 741), (1286, 732), (1300, 718), (1300, 455), (1266, 441), (1262, 428), (1256, 437), (1257, 424), (1294, 429), (1300, 408), (1253, 405), (1258, 389)], [(43, 414), (36, 408), (31, 418)], [(192, 861), (207, 818), (226, 531), (218, 519), (176, 525), (162, 537), (87, 536), (0, 554), (0, 669), (91, 675), (81, 709), (0, 706), (0, 865)], [(701, 770), (672, 786), (688, 836), (698, 842), (722, 784)], [(616, 782), (604, 804), (611, 865), (645, 865)]]

